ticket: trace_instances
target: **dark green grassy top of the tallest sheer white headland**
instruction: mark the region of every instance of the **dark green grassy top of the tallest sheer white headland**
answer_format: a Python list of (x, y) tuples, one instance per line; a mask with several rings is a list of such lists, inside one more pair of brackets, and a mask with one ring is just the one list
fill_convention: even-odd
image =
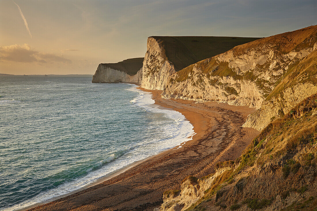
[(177, 70), (226, 52), (256, 37), (152, 36), (165, 49), (165, 55)]

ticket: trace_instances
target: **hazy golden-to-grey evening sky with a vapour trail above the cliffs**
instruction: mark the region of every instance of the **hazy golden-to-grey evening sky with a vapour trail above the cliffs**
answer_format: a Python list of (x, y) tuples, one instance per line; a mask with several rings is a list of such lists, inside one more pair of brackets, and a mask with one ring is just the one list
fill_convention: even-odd
[(147, 37), (266, 37), (317, 24), (317, 0), (0, 0), (0, 73), (94, 74)]

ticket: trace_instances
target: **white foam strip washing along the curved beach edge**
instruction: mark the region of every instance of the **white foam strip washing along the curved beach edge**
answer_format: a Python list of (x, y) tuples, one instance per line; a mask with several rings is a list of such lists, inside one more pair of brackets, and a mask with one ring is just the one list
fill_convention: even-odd
[[(40, 194), (29, 200), (26, 200), (18, 205), (6, 208), (4, 210), (21, 210), (37, 203), (47, 203), (49, 201), (55, 200), (63, 195), (67, 195), (76, 190), (85, 188), (89, 184), (96, 182), (101, 177), (106, 176), (107, 174), (124, 166), (127, 166), (133, 162), (157, 154), (160, 151), (171, 149), (175, 146), (178, 146), (176, 149), (174, 149), (177, 150), (181, 148), (186, 141), (192, 139), (192, 136), (195, 134), (193, 131), (193, 126), (189, 121), (185, 119), (184, 115), (174, 110), (158, 108), (159, 106), (154, 104), (155, 101), (152, 99), (150, 93), (136, 89), (136, 85), (131, 86), (132, 87), (128, 88), (128, 90), (139, 93), (137, 97), (130, 101), (131, 104), (144, 109), (146, 112), (161, 113), (166, 118), (172, 120), (172, 124), (166, 124), (163, 128), (163, 131), (166, 133), (165, 135), (167, 138), (157, 139), (154, 137), (153, 140), (150, 140), (146, 143), (139, 143), (136, 146), (128, 147), (116, 154), (111, 154), (107, 158), (96, 163), (94, 167), (99, 166), (99, 169), (93, 170), (94, 167), (88, 169), (88, 175), (78, 178), (72, 182), (63, 183), (55, 189), (41, 192)], [(157, 147), (157, 149), (154, 150), (153, 147)], [(140, 151), (138, 150), (142, 150), (142, 153), (140, 153)], [(107, 163), (107, 165), (104, 165), (105, 163)]]

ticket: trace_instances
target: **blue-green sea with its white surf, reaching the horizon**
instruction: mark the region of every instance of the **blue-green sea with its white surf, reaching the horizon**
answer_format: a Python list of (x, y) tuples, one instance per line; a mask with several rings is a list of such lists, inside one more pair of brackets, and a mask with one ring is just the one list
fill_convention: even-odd
[(190, 122), (150, 93), (91, 80), (0, 75), (0, 210), (55, 200), (191, 140)]

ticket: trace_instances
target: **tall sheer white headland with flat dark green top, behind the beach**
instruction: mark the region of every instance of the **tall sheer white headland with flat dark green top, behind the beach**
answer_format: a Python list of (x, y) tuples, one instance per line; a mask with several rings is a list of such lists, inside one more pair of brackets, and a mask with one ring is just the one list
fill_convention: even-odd
[(245, 37), (162, 37), (147, 40), (142, 87), (164, 90), (169, 76), (197, 61), (223, 53), (236, 45), (256, 40)]

